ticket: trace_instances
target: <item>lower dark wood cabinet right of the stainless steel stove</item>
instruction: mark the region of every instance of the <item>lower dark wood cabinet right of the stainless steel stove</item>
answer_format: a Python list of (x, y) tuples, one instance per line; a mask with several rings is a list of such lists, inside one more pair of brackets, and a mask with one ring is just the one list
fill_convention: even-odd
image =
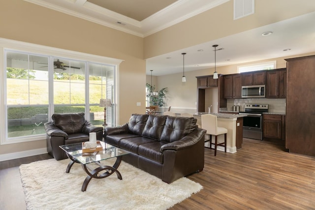
[(284, 115), (263, 115), (263, 138), (284, 140)]

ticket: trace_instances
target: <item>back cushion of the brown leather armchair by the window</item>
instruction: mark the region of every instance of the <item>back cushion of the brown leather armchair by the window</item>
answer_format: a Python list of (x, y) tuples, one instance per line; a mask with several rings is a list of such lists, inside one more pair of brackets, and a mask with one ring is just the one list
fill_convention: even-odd
[(85, 124), (84, 113), (53, 114), (54, 124), (67, 134), (81, 133)]

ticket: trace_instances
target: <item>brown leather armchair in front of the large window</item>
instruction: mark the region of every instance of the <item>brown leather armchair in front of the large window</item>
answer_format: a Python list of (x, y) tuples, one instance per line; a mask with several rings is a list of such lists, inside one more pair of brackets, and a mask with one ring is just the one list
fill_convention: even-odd
[(96, 127), (85, 120), (84, 113), (53, 114), (51, 118), (52, 121), (44, 124), (47, 151), (56, 160), (67, 158), (59, 146), (89, 141), (91, 132), (96, 132), (96, 139), (102, 141), (103, 127)]

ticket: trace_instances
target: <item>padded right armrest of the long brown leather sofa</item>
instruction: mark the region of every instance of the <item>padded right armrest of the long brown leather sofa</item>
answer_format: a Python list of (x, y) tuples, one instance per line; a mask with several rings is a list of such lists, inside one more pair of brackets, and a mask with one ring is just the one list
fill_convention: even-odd
[(165, 144), (161, 147), (160, 151), (163, 150), (184, 150), (186, 148), (195, 145), (206, 133), (206, 130), (196, 128), (194, 131), (184, 136), (182, 139)]

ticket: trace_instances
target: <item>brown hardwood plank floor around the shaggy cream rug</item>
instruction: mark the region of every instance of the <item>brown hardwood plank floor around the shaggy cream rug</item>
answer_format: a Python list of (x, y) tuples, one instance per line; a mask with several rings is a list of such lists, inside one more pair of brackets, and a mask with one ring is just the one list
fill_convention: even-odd
[[(24, 210), (18, 166), (51, 158), (0, 162), (0, 210)], [(315, 210), (315, 157), (288, 153), (273, 142), (245, 139), (236, 153), (205, 149), (205, 167), (189, 176), (203, 186), (172, 210)]]

